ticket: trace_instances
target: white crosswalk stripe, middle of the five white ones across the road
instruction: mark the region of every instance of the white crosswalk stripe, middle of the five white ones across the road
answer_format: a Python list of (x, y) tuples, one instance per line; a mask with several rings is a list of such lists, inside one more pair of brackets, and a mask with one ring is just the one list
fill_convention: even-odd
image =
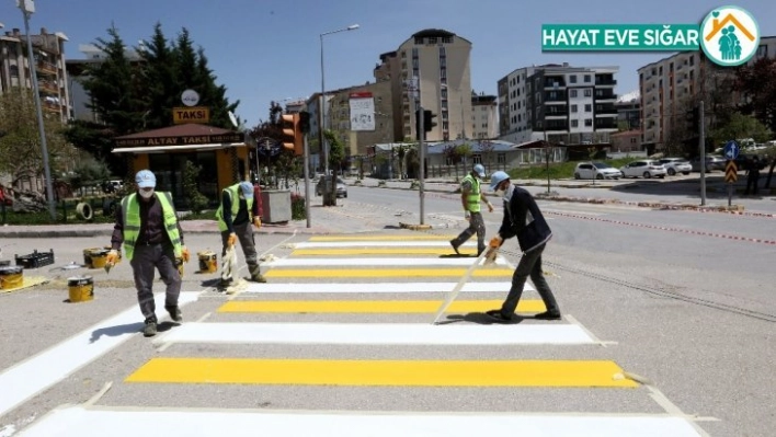
[[(449, 292), (456, 283), (316, 283), (316, 284), (255, 284), (249, 283), (243, 292), (255, 294), (387, 294), (387, 292)], [(466, 283), (461, 292), (507, 292), (511, 281)], [(525, 291), (536, 291), (525, 283)], [(504, 295), (506, 296), (506, 295)]]

